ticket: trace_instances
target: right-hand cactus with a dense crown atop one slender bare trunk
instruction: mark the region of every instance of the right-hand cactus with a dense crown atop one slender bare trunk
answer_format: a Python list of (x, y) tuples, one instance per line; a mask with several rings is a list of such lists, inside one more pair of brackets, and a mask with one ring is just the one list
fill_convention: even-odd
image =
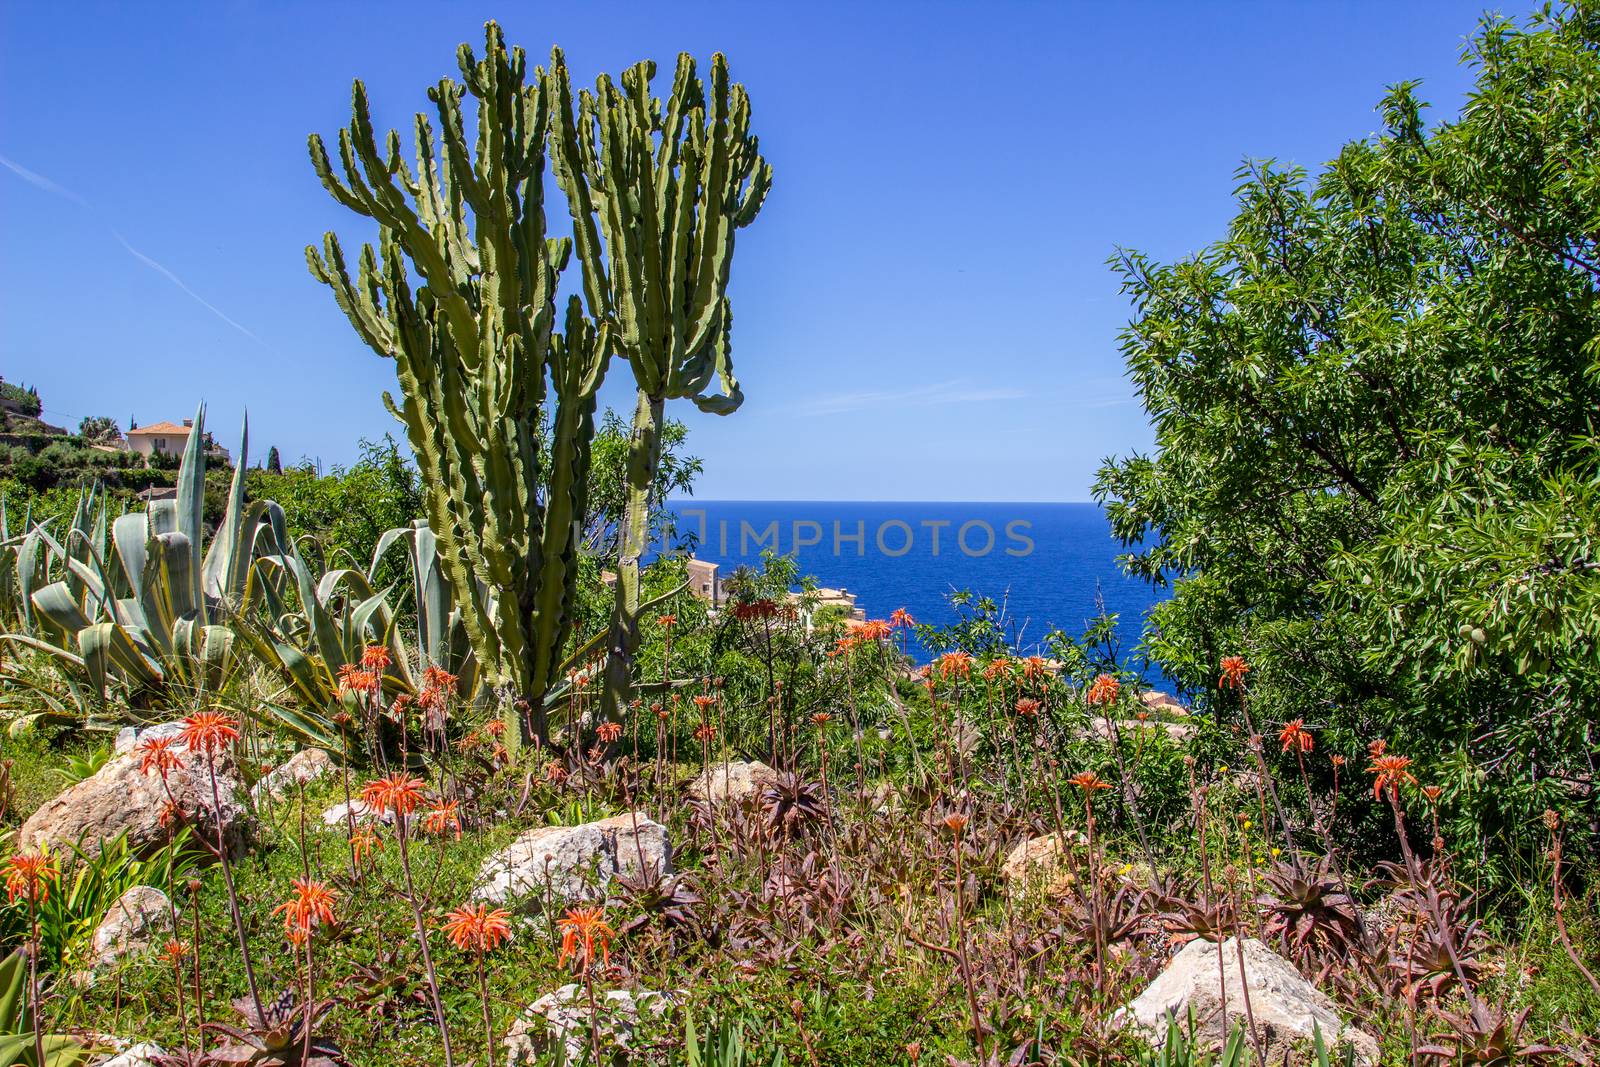
[[(613, 328), (634, 370), (638, 403), (627, 459), (627, 506), (606, 659), (606, 710), (627, 697), (638, 648), (638, 560), (661, 462), (667, 400), (728, 414), (742, 403), (733, 378), (728, 270), (734, 232), (749, 226), (773, 168), (750, 136), (750, 99), (712, 56), (710, 83), (678, 56), (666, 106), (651, 96), (656, 64), (605, 75), (578, 96), (566, 61), (550, 58), (550, 155), (573, 214), (589, 312)], [(712, 379), (717, 390), (709, 392)]]

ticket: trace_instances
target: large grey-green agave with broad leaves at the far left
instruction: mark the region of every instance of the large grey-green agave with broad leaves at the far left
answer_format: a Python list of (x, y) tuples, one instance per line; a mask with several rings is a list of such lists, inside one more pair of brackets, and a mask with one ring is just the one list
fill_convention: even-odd
[[(285, 522), (275, 504), (245, 504), (246, 421), (227, 510), (206, 545), (203, 442), (205, 405), (174, 499), (118, 517), (107, 537), (106, 501), (96, 506), (91, 491), (64, 542), (35, 526), (18, 549), (27, 617), (22, 632), (3, 637), (46, 653), (94, 699), (115, 685), (133, 701), (179, 693), (198, 701), (222, 689), (240, 664), (227, 622), (246, 603), (251, 560), (282, 544)], [(59, 579), (35, 589), (40, 569)]]

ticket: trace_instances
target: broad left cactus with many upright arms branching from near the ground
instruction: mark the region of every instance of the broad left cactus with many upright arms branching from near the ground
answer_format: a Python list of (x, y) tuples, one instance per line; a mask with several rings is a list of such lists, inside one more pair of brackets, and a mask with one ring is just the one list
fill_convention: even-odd
[[(403, 398), (384, 402), (416, 453), (440, 561), (485, 680), (501, 691), (512, 733), (528, 739), (544, 733), (544, 696), (571, 630), (610, 339), (578, 298), (555, 330), (571, 243), (546, 235), (549, 85), (541, 69), (530, 77), (520, 48), (507, 51), (494, 22), (485, 38), (482, 61), (467, 45), (458, 51), (464, 85), (443, 78), (429, 90), (440, 138), (419, 114), (414, 171), (397, 133), (379, 150), (360, 82), (339, 131), (342, 176), (310, 138), (322, 184), (374, 219), (381, 240), (376, 253), (362, 248), (355, 280), (333, 234), (306, 259), (362, 339), (395, 360)], [(472, 147), (466, 93), (477, 102)], [(552, 445), (541, 454), (547, 419)], [(525, 713), (514, 710), (522, 701)]]

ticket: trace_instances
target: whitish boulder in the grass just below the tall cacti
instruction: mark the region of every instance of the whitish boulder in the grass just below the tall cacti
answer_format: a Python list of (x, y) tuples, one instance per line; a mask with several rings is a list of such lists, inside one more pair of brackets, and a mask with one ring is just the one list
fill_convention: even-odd
[(667, 827), (642, 811), (579, 825), (546, 825), (528, 830), (483, 861), (474, 899), (491, 904), (518, 902), (539, 909), (557, 904), (603, 901), (619, 873), (672, 872)]

